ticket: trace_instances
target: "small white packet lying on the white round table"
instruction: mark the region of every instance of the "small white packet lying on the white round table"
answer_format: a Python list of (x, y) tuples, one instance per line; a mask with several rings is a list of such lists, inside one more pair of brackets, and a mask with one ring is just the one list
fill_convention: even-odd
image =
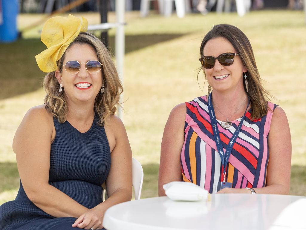
[(167, 197), (173, 201), (203, 201), (208, 199), (208, 191), (191, 182), (174, 181), (164, 184)]

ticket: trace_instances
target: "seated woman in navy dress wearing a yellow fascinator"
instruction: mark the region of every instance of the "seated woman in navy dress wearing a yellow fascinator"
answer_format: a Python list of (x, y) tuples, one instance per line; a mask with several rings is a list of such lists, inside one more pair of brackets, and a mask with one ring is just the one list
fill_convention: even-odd
[[(131, 200), (132, 152), (114, 115), (122, 85), (82, 17), (50, 18), (36, 56), (47, 72), (45, 104), (31, 108), (13, 140), (20, 189), (0, 206), (0, 229), (102, 229), (107, 208)], [(102, 202), (103, 182), (108, 199)]]

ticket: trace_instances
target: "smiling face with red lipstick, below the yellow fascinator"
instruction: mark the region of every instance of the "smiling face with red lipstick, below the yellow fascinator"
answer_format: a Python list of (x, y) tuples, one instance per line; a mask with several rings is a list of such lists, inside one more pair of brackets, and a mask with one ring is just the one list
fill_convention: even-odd
[[(102, 86), (102, 70), (97, 74), (90, 74), (86, 70), (85, 64), (89, 60), (98, 60), (95, 50), (88, 44), (73, 44), (65, 52), (63, 64), (76, 60), (81, 64), (80, 71), (71, 75), (65, 67), (62, 72), (55, 71), (55, 77), (60, 84), (63, 84), (65, 98), (67, 101), (94, 102)], [(84, 64), (85, 63), (85, 64)]]

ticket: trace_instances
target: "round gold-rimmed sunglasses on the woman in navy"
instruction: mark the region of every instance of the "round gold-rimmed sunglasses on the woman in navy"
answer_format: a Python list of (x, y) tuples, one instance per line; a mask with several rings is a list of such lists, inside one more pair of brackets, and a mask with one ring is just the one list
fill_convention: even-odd
[(78, 61), (68, 61), (63, 67), (65, 67), (65, 71), (69, 74), (77, 74), (80, 71), (81, 64), (85, 64), (86, 70), (90, 74), (97, 74), (100, 72), (102, 68), (102, 64), (97, 60), (90, 60), (87, 63), (79, 63)]

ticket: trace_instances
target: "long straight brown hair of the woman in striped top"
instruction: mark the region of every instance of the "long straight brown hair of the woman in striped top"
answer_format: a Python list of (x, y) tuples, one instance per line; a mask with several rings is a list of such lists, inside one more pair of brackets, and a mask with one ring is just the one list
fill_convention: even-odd
[[(245, 34), (236, 26), (229, 24), (215, 25), (202, 40), (200, 46), (201, 57), (203, 56), (203, 49), (207, 41), (218, 37), (225, 38), (233, 45), (237, 53), (239, 53), (239, 57), (241, 58), (242, 63), (248, 69), (246, 72), (248, 80), (248, 92), (245, 87), (245, 82), (242, 80), (243, 75), (241, 75), (241, 80), (243, 81), (244, 90), (248, 94), (248, 97), (252, 103), (252, 120), (256, 120), (265, 116), (268, 111), (267, 101), (274, 97), (263, 87), (262, 79), (260, 78), (256, 66), (256, 61), (250, 41), (248, 40), (247, 36), (245, 36)], [(204, 67), (201, 67), (201, 69), (203, 69), (204, 72)]]

